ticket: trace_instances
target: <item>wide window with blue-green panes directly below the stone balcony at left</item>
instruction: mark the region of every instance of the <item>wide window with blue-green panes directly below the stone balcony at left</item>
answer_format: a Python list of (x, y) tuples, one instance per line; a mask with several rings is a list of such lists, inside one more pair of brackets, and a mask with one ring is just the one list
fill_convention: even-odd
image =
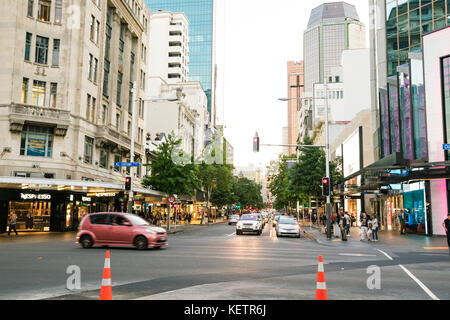
[(51, 158), (53, 128), (25, 125), (20, 142), (20, 155)]

